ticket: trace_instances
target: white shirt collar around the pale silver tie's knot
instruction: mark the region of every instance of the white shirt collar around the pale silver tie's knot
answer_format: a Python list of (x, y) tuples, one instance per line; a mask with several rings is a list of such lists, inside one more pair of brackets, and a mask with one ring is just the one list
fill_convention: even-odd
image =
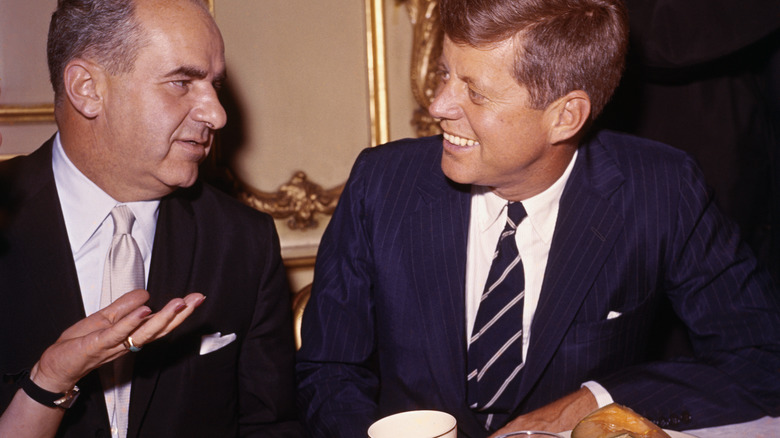
[[(62, 148), (59, 133), (54, 137), (52, 170), (71, 249), (77, 252), (100, 228), (111, 209), (121, 203), (76, 168)], [(133, 237), (136, 238), (142, 253), (148, 254), (154, 241), (160, 201), (128, 202), (125, 205), (136, 217)]]

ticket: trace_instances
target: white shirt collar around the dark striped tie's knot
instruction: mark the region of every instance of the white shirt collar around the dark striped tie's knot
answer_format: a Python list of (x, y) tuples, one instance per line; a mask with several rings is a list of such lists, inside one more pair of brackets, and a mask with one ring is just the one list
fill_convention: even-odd
[[(547, 243), (552, 241), (561, 195), (574, 168), (577, 153), (578, 151), (575, 150), (569, 165), (566, 166), (566, 170), (550, 187), (523, 201), (523, 207), (526, 213), (528, 213), (527, 220), (531, 223), (536, 233)], [(506, 199), (496, 195), (490, 187), (472, 186), (472, 196), (476, 198), (477, 202), (483, 203), (483, 211), (486, 212), (479, 223), (480, 230), (485, 231), (496, 221), (505, 220), (506, 212), (504, 207), (506, 206)]]

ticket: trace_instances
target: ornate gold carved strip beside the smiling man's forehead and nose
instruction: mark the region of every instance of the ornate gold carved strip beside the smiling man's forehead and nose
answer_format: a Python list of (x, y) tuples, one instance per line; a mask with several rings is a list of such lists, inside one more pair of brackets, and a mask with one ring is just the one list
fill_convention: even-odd
[(420, 105), (412, 117), (418, 136), (441, 133), (438, 122), (428, 113), (436, 91), (436, 63), (441, 56), (443, 32), (439, 24), (437, 0), (399, 0), (406, 5), (413, 26), (412, 94)]

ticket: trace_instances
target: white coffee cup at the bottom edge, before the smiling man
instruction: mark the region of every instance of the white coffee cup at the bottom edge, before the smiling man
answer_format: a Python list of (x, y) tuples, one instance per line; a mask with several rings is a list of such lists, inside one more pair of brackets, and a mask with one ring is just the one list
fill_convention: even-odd
[(457, 438), (455, 417), (440, 411), (407, 411), (390, 415), (368, 428), (369, 438)]

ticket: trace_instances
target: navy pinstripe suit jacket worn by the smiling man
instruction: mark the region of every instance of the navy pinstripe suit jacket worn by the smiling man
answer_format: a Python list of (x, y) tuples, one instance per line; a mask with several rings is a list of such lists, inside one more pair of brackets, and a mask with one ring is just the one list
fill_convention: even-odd
[[(365, 437), (381, 416), (466, 404), (470, 188), (441, 137), (364, 151), (323, 237), (299, 352), (314, 436)], [(656, 360), (670, 304), (694, 357)], [(621, 316), (607, 319), (610, 311)], [(780, 414), (780, 297), (683, 152), (602, 132), (561, 198), (516, 414), (601, 383), (639, 413), (695, 428)], [(672, 422), (674, 423), (674, 421)]]

